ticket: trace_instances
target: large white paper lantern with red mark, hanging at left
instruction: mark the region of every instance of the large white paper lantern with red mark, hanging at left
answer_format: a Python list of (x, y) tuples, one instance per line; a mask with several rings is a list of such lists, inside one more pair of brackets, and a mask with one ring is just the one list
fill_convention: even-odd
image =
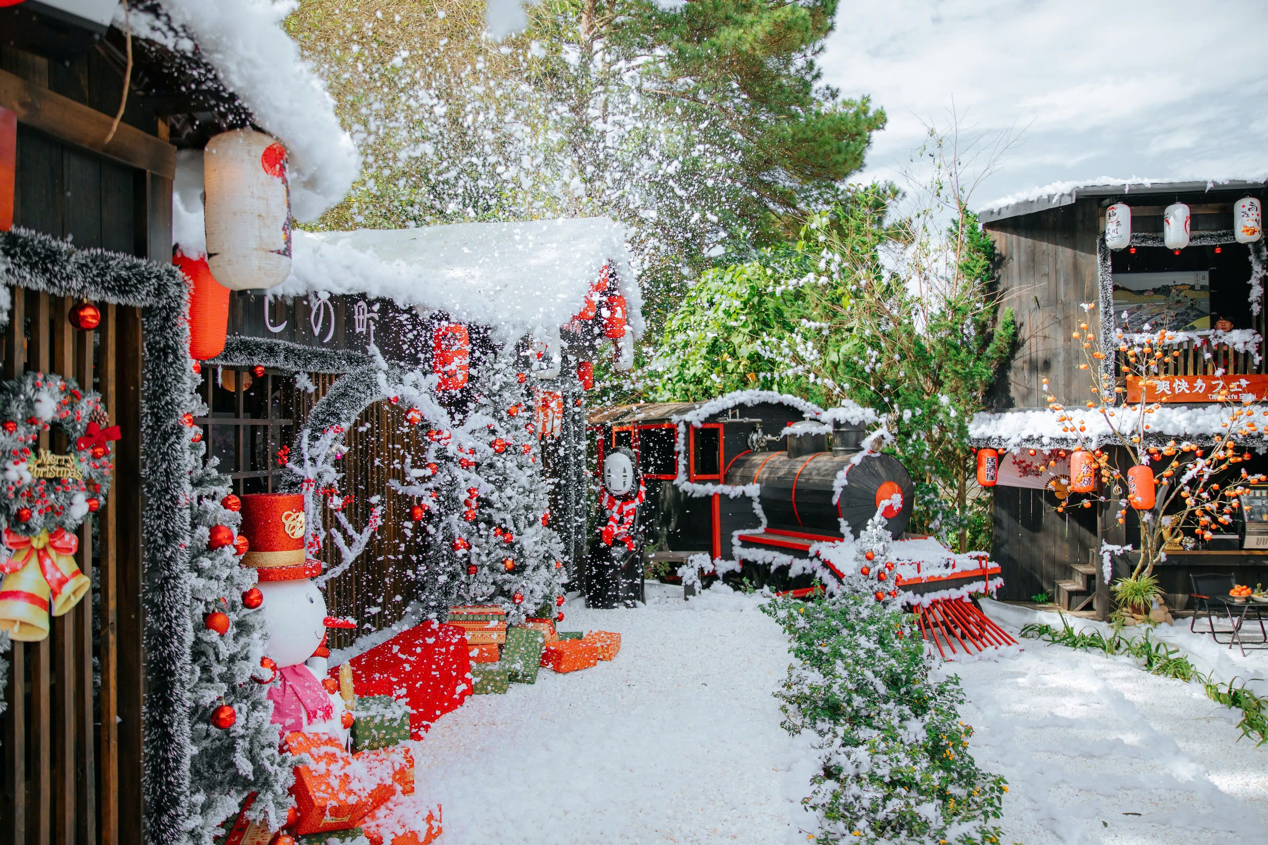
[(287, 148), (254, 129), (223, 132), (203, 151), (207, 264), (230, 290), (273, 288), (290, 275)]

